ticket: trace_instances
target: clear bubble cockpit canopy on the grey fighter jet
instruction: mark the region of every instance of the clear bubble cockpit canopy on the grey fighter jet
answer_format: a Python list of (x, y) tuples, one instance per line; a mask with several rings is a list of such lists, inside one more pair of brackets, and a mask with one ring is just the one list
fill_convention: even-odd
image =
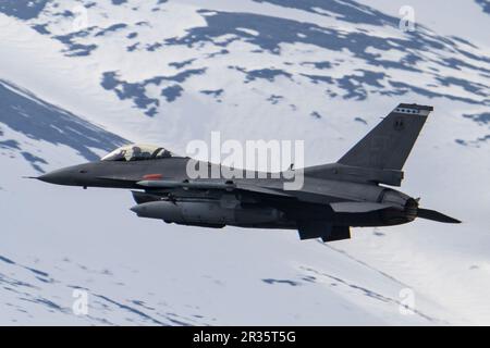
[(125, 145), (102, 157), (101, 161), (146, 161), (175, 157), (169, 150), (151, 145)]

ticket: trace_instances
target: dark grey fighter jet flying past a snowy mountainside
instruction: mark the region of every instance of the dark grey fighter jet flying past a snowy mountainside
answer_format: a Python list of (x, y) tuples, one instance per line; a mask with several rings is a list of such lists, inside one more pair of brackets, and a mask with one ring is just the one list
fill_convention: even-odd
[(133, 189), (137, 204), (131, 210), (140, 217), (216, 228), (297, 229), (301, 239), (321, 238), (326, 243), (351, 238), (351, 227), (400, 225), (416, 217), (461, 223), (419, 208), (419, 199), (389, 187), (401, 186), (403, 165), (432, 110), (399, 104), (338, 162), (305, 167), (301, 189), (286, 188), (291, 175), (285, 172), (253, 178), (246, 174), (191, 178), (189, 161), (209, 172), (220, 164), (143, 145), (123, 146), (100, 161), (37, 178), (84, 188)]

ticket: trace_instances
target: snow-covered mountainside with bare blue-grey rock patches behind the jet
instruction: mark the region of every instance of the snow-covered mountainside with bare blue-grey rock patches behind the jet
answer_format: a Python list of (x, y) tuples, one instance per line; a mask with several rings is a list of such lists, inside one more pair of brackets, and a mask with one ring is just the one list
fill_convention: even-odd
[[(490, 323), (488, 2), (411, 1), (413, 32), (404, 4), (0, 1), (0, 323)], [(403, 190), (464, 224), (323, 245), (139, 220), (128, 192), (22, 178), (128, 139), (183, 153), (211, 130), (304, 139), (307, 164), (331, 162), (399, 102), (436, 108)]]

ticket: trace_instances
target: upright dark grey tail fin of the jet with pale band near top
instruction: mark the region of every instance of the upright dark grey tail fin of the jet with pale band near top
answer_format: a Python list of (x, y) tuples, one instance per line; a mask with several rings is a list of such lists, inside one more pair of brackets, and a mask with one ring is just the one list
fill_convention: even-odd
[(432, 107), (400, 104), (357, 142), (339, 163), (402, 170)]

